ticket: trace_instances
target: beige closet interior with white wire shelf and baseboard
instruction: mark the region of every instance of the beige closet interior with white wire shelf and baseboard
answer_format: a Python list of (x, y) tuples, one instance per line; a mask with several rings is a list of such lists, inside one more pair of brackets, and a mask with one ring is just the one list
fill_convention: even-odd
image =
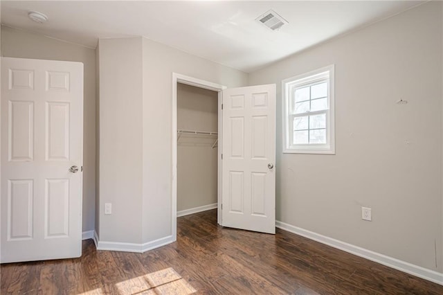
[(177, 83), (177, 217), (217, 208), (218, 93)]

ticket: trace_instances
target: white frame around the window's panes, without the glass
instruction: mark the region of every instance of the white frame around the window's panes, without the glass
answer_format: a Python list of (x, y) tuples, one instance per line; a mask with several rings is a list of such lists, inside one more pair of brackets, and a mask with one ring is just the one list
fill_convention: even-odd
[[(283, 125), (283, 153), (298, 154), (335, 154), (335, 117), (334, 117), (334, 64), (325, 66), (309, 73), (296, 75), (282, 80), (282, 125)], [(327, 102), (329, 108), (325, 111), (307, 111), (303, 114), (292, 114), (291, 105), (294, 88), (305, 87), (318, 82), (327, 81)], [(294, 116), (309, 116), (326, 114), (326, 143), (292, 144)]]

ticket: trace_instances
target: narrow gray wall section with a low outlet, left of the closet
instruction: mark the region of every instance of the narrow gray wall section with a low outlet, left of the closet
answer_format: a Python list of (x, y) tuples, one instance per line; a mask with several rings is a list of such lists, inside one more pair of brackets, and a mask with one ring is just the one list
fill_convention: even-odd
[[(100, 39), (100, 241), (142, 242), (142, 38)], [(153, 122), (154, 123), (154, 122)], [(105, 215), (105, 203), (112, 214)]]

